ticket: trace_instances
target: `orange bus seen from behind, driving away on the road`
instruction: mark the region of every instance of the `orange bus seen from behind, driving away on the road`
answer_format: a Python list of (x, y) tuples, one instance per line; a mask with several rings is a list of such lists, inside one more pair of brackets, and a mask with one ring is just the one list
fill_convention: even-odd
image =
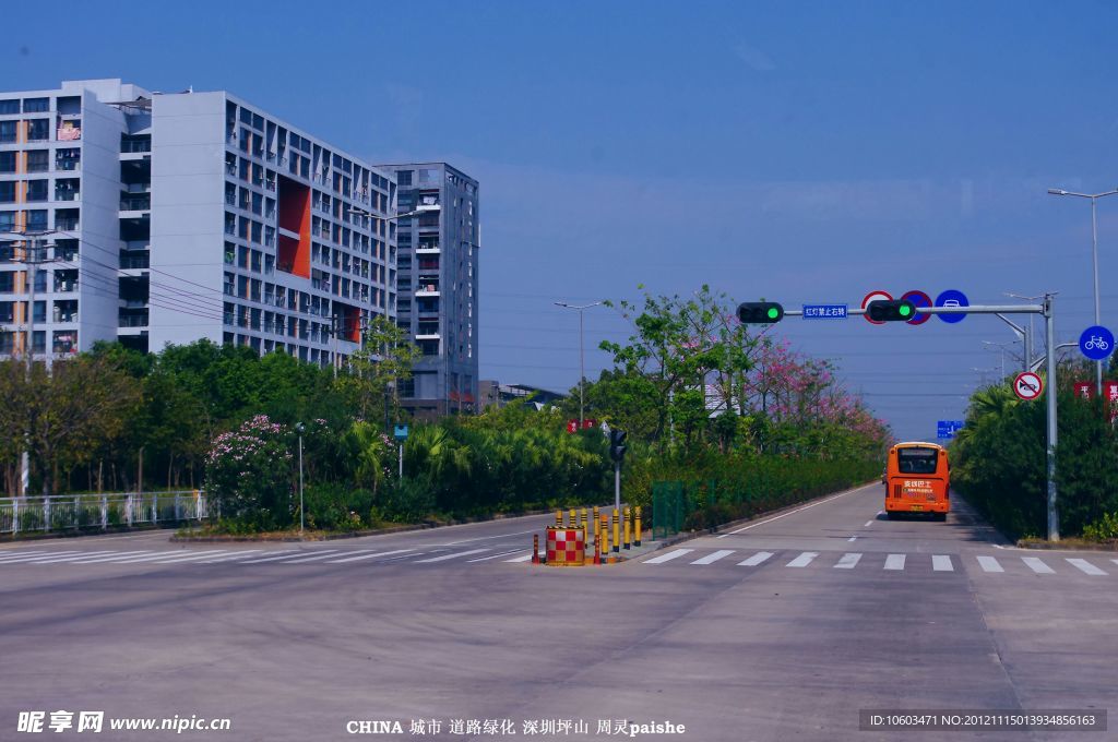
[(936, 444), (904, 443), (889, 449), (885, 462), (885, 517), (930, 513), (945, 521), (951, 508), (947, 449)]

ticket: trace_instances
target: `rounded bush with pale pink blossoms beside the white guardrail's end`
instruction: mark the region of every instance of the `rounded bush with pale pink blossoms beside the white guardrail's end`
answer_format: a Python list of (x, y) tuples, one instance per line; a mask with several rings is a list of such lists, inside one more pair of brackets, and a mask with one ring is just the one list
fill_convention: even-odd
[(257, 415), (214, 439), (206, 457), (206, 488), (224, 516), (249, 527), (273, 529), (292, 520), (291, 430)]

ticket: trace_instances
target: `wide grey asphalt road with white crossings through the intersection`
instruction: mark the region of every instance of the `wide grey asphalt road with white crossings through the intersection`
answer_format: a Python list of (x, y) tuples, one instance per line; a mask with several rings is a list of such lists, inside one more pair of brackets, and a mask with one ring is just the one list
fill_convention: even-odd
[[(493, 740), (505, 720), (547, 740), (622, 736), (623, 720), (700, 742), (1118, 739), (859, 731), (860, 710), (1118, 710), (1118, 554), (1008, 548), (958, 500), (947, 523), (888, 521), (881, 496), (586, 569), (527, 561), (546, 516), (314, 544), (3, 545), (0, 740), (35, 739), (19, 712), (58, 710), (104, 711), (102, 740), (341, 740), (362, 720), (410, 740)], [(174, 715), (233, 729), (107, 729)], [(438, 733), (409, 733), (432, 719)], [(541, 720), (560, 731), (525, 733)]]

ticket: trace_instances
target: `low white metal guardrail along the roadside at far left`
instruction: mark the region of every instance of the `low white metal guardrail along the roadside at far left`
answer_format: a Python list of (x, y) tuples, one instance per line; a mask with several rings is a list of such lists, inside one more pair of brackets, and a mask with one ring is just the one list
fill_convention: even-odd
[(199, 521), (217, 515), (206, 493), (179, 489), (152, 493), (0, 497), (0, 534), (132, 526), (141, 523)]

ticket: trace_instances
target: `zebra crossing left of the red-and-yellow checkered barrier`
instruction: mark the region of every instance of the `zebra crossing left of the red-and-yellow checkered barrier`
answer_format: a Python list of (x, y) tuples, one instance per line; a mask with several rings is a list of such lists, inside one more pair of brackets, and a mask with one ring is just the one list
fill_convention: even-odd
[(0, 572), (4, 568), (65, 565), (78, 567), (87, 564), (115, 565), (183, 565), (196, 564), (230, 564), (246, 568), (260, 565), (288, 564), (340, 564), (340, 565), (375, 565), (375, 564), (445, 564), (476, 562), (527, 562), (532, 558), (531, 551), (523, 548), (510, 550), (503, 548), (475, 548), (455, 550), (447, 548), (427, 549), (181, 549), (176, 551), (152, 550), (12, 550), (0, 551)]

